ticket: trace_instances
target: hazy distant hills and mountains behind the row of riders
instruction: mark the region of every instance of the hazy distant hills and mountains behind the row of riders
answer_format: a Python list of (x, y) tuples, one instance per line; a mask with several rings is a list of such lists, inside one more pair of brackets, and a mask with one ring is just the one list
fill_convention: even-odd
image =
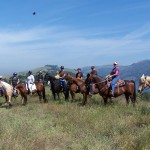
[[(121, 78), (122, 79), (127, 79), (127, 80), (134, 80), (136, 83), (138, 83), (139, 78), (142, 76), (142, 74), (145, 75), (150, 75), (150, 60), (143, 60), (137, 63), (133, 63), (128, 66), (119, 66), (121, 70)], [(96, 69), (98, 71), (98, 74), (102, 77), (105, 77), (110, 73), (112, 70), (113, 66), (112, 65), (104, 65), (104, 66), (96, 66)], [(44, 67), (39, 67), (35, 68), (32, 70), (33, 74), (36, 75), (36, 73), (42, 70), (43, 74), (46, 72), (51, 73), (52, 75), (55, 75), (56, 71), (60, 70), (60, 66), (58, 65), (45, 65)], [(72, 75), (75, 76), (76, 70), (75, 69), (70, 69), (70, 68), (65, 68), (65, 71)], [(26, 73), (28, 71), (24, 72), (19, 72), (18, 75), (25, 79), (26, 78)], [(82, 72), (84, 74), (84, 77), (86, 77), (87, 73), (91, 72), (91, 66), (83, 67)], [(11, 75), (7, 74), (4, 75), (5, 78), (9, 78)]]

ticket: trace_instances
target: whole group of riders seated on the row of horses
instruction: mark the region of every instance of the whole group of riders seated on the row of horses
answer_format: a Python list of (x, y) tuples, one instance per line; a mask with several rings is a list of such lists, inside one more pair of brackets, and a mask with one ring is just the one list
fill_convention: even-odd
[[(111, 83), (110, 83), (110, 85), (111, 85), (110, 87), (112, 89), (110, 94), (111, 94), (112, 97), (114, 96), (115, 84), (120, 79), (120, 69), (118, 67), (118, 63), (114, 62), (113, 66), (114, 67), (113, 67), (112, 71), (110, 72), (110, 74), (106, 76), (107, 78), (111, 78), (112, 79)], [(90, 72), (90, 74), (92, 74), (92, 75), (98, 75), (98, 72), (97, 72), (95, 66), (91, 66), (91, 72)], [(44, 80), (45, 80), (45, 78), (46, 78), (47, 75), (48, 75), (48, 73), (46, 73), (45, 76), (43, 76), (42, 71), (40, 70), (38, 72), (37, 76), (34, 77), (34, 75), (32, 74), (32, 71), (29, 71), (28, 74), (27, 74), (27, 78), (26, 78), (26, 85), (27, 85), (29, 93), (32, 93), (32, 85), (35, 84), (35, 81), (43, 82), (44, 83)], [(60, 84), (61, 84), (64, 92), (65, 92), (65, 89), (67, 88), (67, 82), (65, 80), (65, 76), (66, 75), (67, 75), (67, 73), (66, 73), (66, 71), (64, 69), (64, 66), (61, 66), (60, 67), (60, 71), (57, 71), (56, 75), (55, 75), (55, 78), (59, 79)], [(81, 68), (77, 69), (77, 73), (76, 73), (75, 77), (83, 79), (83, 73), (81, 71)], [(0, 76), (0, 94), (4, 95), (5, 94), (5, 90), (4, 90), (3, 86), (2, 86), (2, 81), (3, 81), (3, 77)], [(13, 76), (10, 77), (10, 84), (13, 87), (13, 95), (16, 95), (15, 86), (19, 82), (20, 82), (20, 79), (19, 79), (17, 73), (14, 72)], [(94, 83), (90, 83), (89, 95), (93, 95), (94, 86), (95, 86)]]

